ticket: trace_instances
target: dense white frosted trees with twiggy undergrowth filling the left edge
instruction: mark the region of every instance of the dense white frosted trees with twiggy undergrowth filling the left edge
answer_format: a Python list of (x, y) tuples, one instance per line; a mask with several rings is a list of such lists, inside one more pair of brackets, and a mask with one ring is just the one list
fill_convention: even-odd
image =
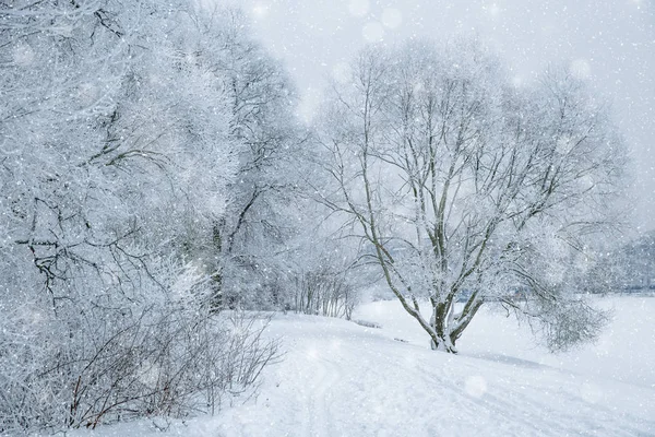
[(0, 2), (0, 433), (213, 409), (273, 355), (210, 306), (240, 153), (207, 31), (228, 20)]

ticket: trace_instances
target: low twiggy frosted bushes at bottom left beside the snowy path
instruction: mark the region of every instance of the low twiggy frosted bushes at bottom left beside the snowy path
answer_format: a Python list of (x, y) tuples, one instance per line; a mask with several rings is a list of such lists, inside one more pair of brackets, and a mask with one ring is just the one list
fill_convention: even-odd
[(212, 314), (199, 302), (206, 281), (183, 292), (67, 300), (57, 316), (16, 308), (2, 322), (0, 429), (214, 413), (222, 398), (248, 390), (276, 356), (276, 344), (261, 339), (265, 320)]

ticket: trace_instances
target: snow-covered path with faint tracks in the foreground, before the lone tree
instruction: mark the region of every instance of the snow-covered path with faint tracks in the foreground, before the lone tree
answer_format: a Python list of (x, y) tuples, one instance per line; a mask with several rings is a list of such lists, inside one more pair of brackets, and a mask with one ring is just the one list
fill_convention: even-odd
[(255, 404), (221, 436), (652, 436), (655, 390), (538, 363), (449, 356), (343, 320), (279, 316)]

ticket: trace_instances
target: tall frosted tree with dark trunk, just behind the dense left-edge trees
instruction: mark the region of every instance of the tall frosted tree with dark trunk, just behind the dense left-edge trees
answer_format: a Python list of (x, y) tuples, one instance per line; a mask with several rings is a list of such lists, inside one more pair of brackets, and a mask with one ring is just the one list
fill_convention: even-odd
[[(214, 32), (222, 50), (214, 60), (229, 101), (229, 134), (237, 146), (229, 202), (215, 221), (216, 302), (219, 306), (278, 306), (275, 253), (295, 233), (300, 128), (295, 90), (281, 63), (254, 42), (242, 14), (227, 11)], [(273, 294), (271, 294), (273, 292)]]

